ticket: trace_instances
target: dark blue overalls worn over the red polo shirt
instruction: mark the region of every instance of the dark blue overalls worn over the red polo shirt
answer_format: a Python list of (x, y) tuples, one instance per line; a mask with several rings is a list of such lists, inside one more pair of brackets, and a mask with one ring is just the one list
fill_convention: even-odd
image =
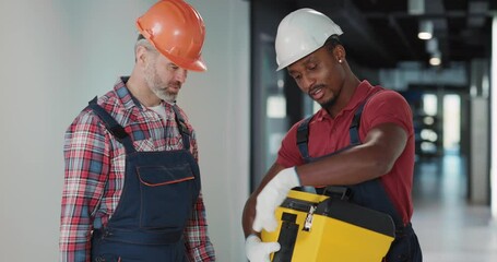
[[(369, 97), (367, 99), (369, 99)], [(367, 99), (363, 104), (360, 104), (360, 106), (354, 112), (354, 118), (348, 129), (351, 144), (345, 148), (339, 150), (326, 156), (339, 154), (340, 152), (343, 152), (345, 150), (348, 150), (353, 146), (360, 144), (358, 132), (360, 115), (363, 114), (363, 108)], [(309, 122), (311, 119), (312, 116), (308, 117), (297, 128), (297, 146), (306, 163), (315, 162), (322, 157), (326, 157), (320, 156), (312, 158), (309, 156), (308, 135)], [(384, 188), (378, 178), (358, 184), (347, 186), (346, 188), (348, 188), (347, 191), (351, 192), (351, 194), (348, 195), (348, 200), (352, 201), (353, 203), (359, 204), (365, 207), (369, 207), (371, 210), (387, 213), (392, 217), (395, 224), (395, 239), (393, 240), (392, 246), (390, 247), (390, 250), (384, 261), (387, 262), (423, 261), (419, 242), (417, 241), (416, 234), (414, 233), (411, 223), (409, 223), (407, 225), (403, 224), (402, 217), (395, 210), (393, 203), (391, 202), (389, 195), (384, 191)], [(318, 193), (322, 193), (323, 189), (317, 188), (316, 191)]]

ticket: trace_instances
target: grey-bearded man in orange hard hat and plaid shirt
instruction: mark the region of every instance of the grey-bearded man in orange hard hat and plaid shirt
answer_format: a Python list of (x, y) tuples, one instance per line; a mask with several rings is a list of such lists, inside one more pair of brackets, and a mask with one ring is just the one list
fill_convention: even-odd
[(60, 261), (215, 261), (193, 128), (176, 97), (205, 71), (200, 14), (162, 0), (137, 21), (130, 76), (66, 132)]

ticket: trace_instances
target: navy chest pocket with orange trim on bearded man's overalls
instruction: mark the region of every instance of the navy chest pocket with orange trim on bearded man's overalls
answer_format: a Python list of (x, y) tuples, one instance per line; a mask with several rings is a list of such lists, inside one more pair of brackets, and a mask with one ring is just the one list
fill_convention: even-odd
[(193, 203), (194, 176), (190, 165), (137, 167), (140, 179), (140, 227), (182, 228)]

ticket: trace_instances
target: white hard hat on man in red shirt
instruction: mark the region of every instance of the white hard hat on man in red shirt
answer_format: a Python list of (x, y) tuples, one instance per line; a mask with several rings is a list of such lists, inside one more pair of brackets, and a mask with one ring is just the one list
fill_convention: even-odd
[(277, 26), (276, 71), (316, 51), (328, 37), (342, 34), (339, 25), (316, 10), (304, 8), (289, 13)]

